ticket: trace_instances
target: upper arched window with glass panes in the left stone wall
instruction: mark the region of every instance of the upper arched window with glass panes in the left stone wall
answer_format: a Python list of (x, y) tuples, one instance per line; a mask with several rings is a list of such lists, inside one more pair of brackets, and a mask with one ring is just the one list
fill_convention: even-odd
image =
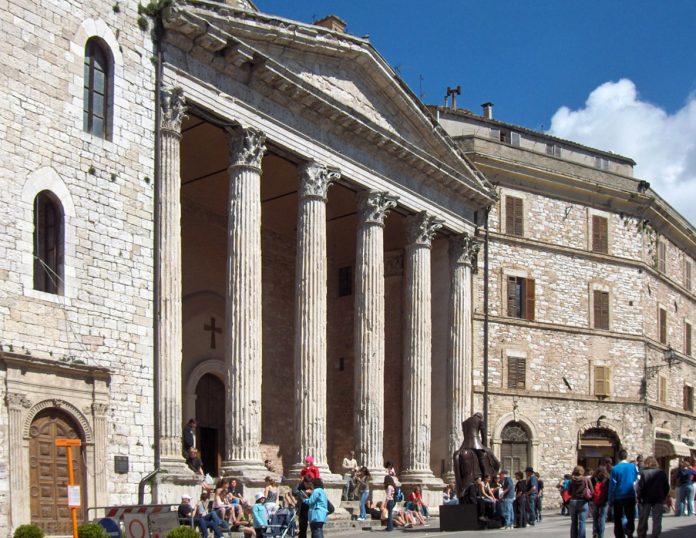
[(102, 138), (110, 135), (112, 63), (108, 48), (98, 38), (85, 47), (83, 128)]

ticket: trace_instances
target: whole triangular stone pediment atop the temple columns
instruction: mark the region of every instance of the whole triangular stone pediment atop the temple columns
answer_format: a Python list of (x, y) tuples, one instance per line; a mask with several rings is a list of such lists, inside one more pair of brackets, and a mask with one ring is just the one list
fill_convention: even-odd
[(390, 145), (396, 156), (431, 161), (490, 196), (485, 179), (366, 39), (198, 2), (176, 4), (164, 23), (213, 52), (218, 69), (232, 75), (247, 69), (250, 79), (272, 85), (271, 98), (351, 124), (376, 145)]

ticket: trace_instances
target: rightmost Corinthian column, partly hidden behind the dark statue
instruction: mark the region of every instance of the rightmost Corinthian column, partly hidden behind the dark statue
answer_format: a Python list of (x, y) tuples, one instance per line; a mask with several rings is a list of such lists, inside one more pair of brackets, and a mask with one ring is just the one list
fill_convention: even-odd
[[(450, 456), (463, 440), (461, 423), (471, 415), (471, 272), (480, 243), (468, 233), (450, 238), (449, 347), (447, 350), (447, 425)], [(452, 458), (446, 478), (454, 480)]]

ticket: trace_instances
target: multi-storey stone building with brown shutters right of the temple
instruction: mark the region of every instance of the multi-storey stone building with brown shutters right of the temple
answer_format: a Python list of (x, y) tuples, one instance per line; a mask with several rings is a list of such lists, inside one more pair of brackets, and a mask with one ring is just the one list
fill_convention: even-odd
[[(631, 159), (433, 107), (496, 186), (488, 261), (489, 434), (503, 464), (557, 479), (624, 447), (696, 455), (696, 230)], [(484, 398), (484, 270), (474, 400)], [(555, 498), (555, 497), (554, 497)]]

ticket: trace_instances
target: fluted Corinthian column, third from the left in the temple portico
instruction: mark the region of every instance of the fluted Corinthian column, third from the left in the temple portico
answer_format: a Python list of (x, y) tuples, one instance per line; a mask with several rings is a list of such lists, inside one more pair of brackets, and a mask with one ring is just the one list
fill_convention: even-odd
[(326, 458), (326, 195), (340, 172), (314, 162), (300, 169), (295, 265), (295, 435), (299, 471)]

